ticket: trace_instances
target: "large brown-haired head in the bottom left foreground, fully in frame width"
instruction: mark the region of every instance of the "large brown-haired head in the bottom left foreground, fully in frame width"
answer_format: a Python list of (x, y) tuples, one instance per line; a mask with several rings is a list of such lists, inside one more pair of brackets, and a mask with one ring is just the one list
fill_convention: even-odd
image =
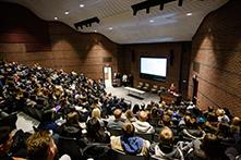
[(36, 132), (27, 138), (27, 157), (29, 160), (53, 160), (57, 147), (48, 132)]

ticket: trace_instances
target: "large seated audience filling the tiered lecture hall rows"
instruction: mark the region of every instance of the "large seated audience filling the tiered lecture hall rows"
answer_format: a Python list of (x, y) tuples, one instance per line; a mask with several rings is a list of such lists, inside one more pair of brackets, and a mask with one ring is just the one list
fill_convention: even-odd
[[(150, 101), (141, 107), (136, 103), (130, 110), (123, 98), (105, 91), (101, 79), (94, 81), (84, 74), (65, 73), (38, 64), (29, 67), (15, 62), (1, 63), (0, 75), (0, 109), (7, 113), (24, 111), (40, 121), (39, 131), (53, 133), (52, 136), (46, 132), (35, 133), (27, 140), (28, 160), (56, 158), (58, 151), (52, 137), (58, 141), (58, 136), (55, 136), (58, 134), (70, 139), (86, 138), (88, 144), (108, 146), (110, 143), (112, 149), (130, 155), (150, 153), (158, 159), (222, 160), (227, 156), (237, 159), (241, 155), (241, 120), (232, 116), (227, 108), (208, 107), (207, 111), (202, 111), (190, 101), (180, 104)], [(174, 86), (171, 87), (169, 91), (174, 93)], [(64, 123), (57, 124), (56, 118)], [(81, 122), (86, 124), (86, 134), (82, 133)], [(155, 130), (160, 133), (158, 140), (154, 138), (157, 144), (149, 147), (148, 140), (140, 136), (156, 134), (153, 126), (158, 126)], [(107, 127), (122, 128), (123, 133), (110, 139)], [(0, 127), (0, 159), (17, 159), (11, 150), (14, 146), (11, 147), (11, 130)], [(80, 155), (63, 153), (80, 159)]]

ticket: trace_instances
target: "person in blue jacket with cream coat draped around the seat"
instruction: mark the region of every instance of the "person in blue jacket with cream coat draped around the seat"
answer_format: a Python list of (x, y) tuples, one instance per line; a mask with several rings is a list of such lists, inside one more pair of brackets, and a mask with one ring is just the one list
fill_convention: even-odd
[(135, 127), (131, 123), (122, 125), (121, 136), (111, 136), (111, 149), (129, 155), (148, 155), (149, 141), (134, 135)]

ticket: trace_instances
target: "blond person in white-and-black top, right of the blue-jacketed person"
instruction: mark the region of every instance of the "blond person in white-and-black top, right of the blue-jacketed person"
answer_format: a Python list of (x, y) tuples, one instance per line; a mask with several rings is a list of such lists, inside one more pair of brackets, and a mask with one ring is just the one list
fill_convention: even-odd
[(149, 147), (149, 153), (157, 159), (178, 159), (184, 160), (181, 148), (174, 145), (174, 136), (167, 126), (159, 132), (159, 143), (155, 143)]

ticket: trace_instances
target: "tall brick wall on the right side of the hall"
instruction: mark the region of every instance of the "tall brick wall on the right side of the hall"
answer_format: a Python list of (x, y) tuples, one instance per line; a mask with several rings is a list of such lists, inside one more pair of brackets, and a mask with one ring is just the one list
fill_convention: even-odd
[(240, 11), (241, 1), (228, 2), (209, 13), (193, 37), (189, 97), (197, 75), (197, 102), (203, 109), (227, 107), (241, 115)]

